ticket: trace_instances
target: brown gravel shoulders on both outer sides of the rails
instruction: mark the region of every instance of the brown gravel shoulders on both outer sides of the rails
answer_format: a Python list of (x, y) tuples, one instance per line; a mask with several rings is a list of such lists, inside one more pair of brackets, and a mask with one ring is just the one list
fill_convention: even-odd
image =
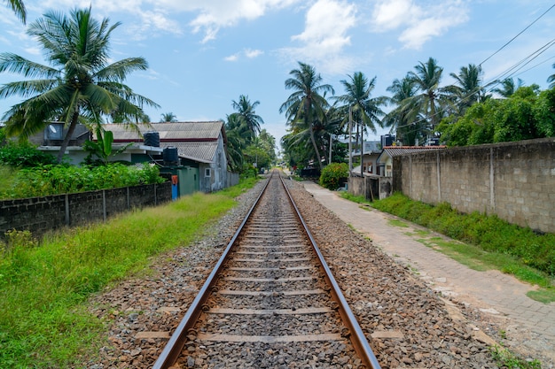
[[(383, 368), (497, 367), (489, 345), (476, 340), (471, 327), (452, 319), (439, 295), (318, 204), (300, 184), (287, 183)], [(122, 282), (91, 301), (91, 311), (113, 325), (100, 359), (89, 360), (88, 368), (152, 366), (261, 187), (259, 183), (242, 195), (238, 207), (198, 242), (160, 257), (151, 275)], [(280, 352), (272, 355), (280, 363), (276, 367), (297, 367), (288, 366)], [(310, 365), (325, 364), (314, 357)]]

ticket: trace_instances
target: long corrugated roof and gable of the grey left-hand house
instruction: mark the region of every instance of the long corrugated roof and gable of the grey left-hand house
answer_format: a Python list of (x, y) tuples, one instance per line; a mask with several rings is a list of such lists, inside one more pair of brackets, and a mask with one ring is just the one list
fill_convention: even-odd
[[(113, 142), (143, 142), (136, 131), (121, 124), (107, 124), (104, 128), (113, 132)], [(141, 135), (158, 132), (160, 148), (176, 147), (179, 157), (201, 163), (214, 161), (220, 135), (226, 140), (222, 121), (148, 123), (138, 128)]]

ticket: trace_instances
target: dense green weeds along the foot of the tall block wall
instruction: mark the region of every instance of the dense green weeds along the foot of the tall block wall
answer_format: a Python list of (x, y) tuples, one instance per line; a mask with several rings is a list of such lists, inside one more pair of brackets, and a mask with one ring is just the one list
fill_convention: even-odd
[(523, 265), (555, 276), (555, 249), (552, 246), (555, 244), (555, 234), (536, 234), (530, 228), (512, 225), (495, 215), (477, 211), (461, 214), (449, 204), (432, 206), (412, 201), (399, 193), (379, 200), (372, 206), (459, 241), (478, 245), (482, 250), (512, 255)]

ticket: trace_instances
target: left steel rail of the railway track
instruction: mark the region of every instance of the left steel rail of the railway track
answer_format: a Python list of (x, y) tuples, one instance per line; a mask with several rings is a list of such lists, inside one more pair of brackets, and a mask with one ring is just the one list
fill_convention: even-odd
[(264, 191), (268, 187), (268, 183), (270, 183), (271, 177), (274, 174), (272, 173), (270, 178), (266, 181), (264, 188), (260, 192), (260, 195), (254, 201), (253, 206), (251, 206), (250, 210), (246, 213), (245, 219), (241, 222), (241, 225), (238, 227), (237, 232), (231, 238), (231, 241), (228, 243), (227, 247), (223, 251), (222, 256), (218, 260), (217, 264), (215, 265), (212, 273), (208, 275), (207, 281), (205, 281), (202, 288), (199, 290), (199, 294), (193, 300), (191, 306), (187, 310), (184, 315), (184, 318), (177, 326), (176, 331), (174, 334), (171, 335), (169, 338), (168, 343), (162, 350), (160, 357), (156, 360), (152, 369), (168, 369), (170, 366), (176, 364), (177, 358), (181, 355), (181, 351), (183, 350), (185, 343), (187, 342), (186, 333), (189, 329), (191, 329), (196, 320), (199, 318), (200, 313), (202, 312), (202, 305), (207, 301), (208, 296), (210, 295), (211, 289), (214, 286), (215, 282), (217, 281), (217, 275), (220, 273), (220, 270), (223, 267), (223, 262), (233, 249), (236, 240), (238, 239), (239, 234), (243, 230), (246, 225), (246, 221), (250, 218), (252, 212), (256, 208), (256, 206), (260, 203), (260, 199), (264, 194)]

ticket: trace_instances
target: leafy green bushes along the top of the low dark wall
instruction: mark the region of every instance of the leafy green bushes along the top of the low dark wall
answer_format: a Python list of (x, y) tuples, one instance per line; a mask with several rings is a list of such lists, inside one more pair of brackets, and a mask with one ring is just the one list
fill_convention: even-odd
[(0, 198), (49, 196), (161, 183), (164, 179), (159, 174), (155, 165), (41, 165), (18, 171), (12, 186), (0, 189)]

